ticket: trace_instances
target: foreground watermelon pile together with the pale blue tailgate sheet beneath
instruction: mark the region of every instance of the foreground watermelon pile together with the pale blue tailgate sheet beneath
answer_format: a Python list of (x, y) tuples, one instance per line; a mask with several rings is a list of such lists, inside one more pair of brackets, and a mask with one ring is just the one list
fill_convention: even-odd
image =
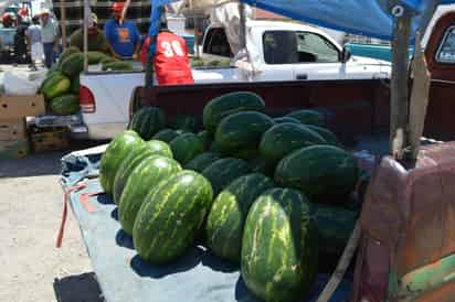
[(243, 91), (177, 121), (142, 108), (92, 162), (81, 172), (64, 159), (63, 183), (113, 302), (315, 300), (355, 228), (366, 173), (322, 114), (271, 117)]

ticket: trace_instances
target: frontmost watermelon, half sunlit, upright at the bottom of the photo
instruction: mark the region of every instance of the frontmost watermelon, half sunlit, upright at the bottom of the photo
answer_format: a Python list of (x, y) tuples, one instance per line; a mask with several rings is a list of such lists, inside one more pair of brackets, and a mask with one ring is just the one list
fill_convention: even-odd
[(317, 233), (306, 197), (272, 188), (253, 204), (242, 240), (246, 288), (266, 302), (300, 301), (317, 274)]

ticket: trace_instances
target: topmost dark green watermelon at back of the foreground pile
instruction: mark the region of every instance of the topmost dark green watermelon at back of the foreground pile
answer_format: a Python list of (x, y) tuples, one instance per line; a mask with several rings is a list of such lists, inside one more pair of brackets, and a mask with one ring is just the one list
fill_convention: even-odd
[(256, 94), (240, 91), (231, 93), (212, 99), (203, 110), (203, 125), (214, 133), (221, 120), (241, 111), (264, 111), (265, 103)]

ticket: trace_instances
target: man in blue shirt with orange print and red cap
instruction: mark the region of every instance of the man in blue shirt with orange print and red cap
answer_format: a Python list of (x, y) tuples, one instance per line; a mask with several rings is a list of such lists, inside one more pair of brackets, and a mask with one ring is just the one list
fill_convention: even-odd
[(113, 19), (104, 24), (104, 32), (115, 57), (137, 58), (140, 52), (140, 34), (135, 22), (121, 20), (124, 6), (124, 2), (113, 4)]

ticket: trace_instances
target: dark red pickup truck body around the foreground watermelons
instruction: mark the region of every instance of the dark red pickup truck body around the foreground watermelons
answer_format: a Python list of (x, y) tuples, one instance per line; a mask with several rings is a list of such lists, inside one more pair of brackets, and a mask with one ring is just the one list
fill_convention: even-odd
[[(362, 206), (350, 301), (454, 301), (455, 144), (438, 143), (455, 139), (454, 21), (455, 12), (444, 14), (425, 48), (431, 86), (424, 136), (436, 144), (425, 147), (411, 168), (390, 157), (377, 166)], [(213, 97), (254, 91), (264, 98), (271, 116), (320, 110), (347, 149), (381, 158), (389, 153), (389, 84), (362, 78), (138, 87), (130, 108), (138, 103), (161, 108), (168, 118), (200, 116)], [(398, 292), (400, 299), (388, 299), (388, 292)]]

